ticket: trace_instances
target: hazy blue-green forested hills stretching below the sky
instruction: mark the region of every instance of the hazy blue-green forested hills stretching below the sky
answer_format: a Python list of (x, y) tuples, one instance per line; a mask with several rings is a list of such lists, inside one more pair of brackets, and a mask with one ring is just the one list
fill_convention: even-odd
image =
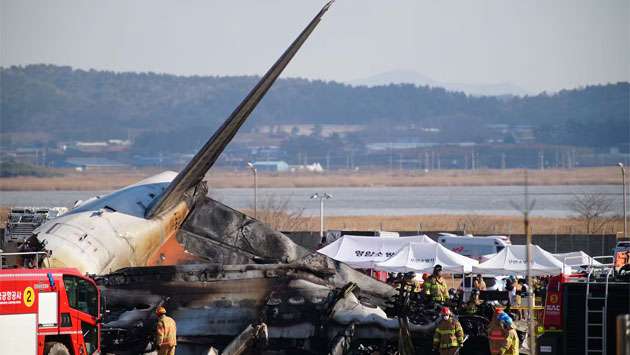
[[(86, 140), (127, 137), (130, 130), (184, 132), (192, 145), (203, 138), (190, 137), (209, 136), (257, 81), (53, 65), (2, 68), (0, 76), (2, 133)], [(531, 125), (543, 143), (604, 147), (628, 142), (629, 108), (628, 83), (501, 99), (409, 84), (281, 79), (248, 126), (359, 124), (381, 137), (396, 137), (396, 127), (430, 127), (441, 132), (440, 140), (461, 141), (480, 137), (486, 124)]]

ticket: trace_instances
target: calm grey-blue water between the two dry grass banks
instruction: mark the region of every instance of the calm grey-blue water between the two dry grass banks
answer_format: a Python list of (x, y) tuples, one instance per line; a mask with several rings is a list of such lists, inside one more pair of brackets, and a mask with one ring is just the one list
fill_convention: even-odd
[[(304, 209), (307, 216), (319, 215), (315, 192), (333, 195), (326, 201), (326, 215), (431, 215), (490, 214), (517, 215), (514, 205), (523, 205), (522, 186), (478, 187), (354, 187), (354, 188), (260, 188), (259, 208), (265, 201), (288, 201), (290, 209)], [(622, 213), (621, 187), (613, 185), (530, 186), (530, 200), (535, 201), (532, 215), (567, 217), (574, 213), (567, 207), (576, 194), (604, 194), (612, 200), (616, 213)], [(67, 206), (76, 200), (106, 194), (107, 191), (0, 191), (2, 206)], [(253, 189), (212, 189), (210, 196), (231, 207), (253, 206)]]

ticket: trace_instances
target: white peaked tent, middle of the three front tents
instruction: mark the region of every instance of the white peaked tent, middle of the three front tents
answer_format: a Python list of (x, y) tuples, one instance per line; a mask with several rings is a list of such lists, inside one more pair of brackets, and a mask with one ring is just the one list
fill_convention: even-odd
[(389, 272), (431, 272), (435, 265), (442, 265), (442, 270), (452, 273), (470, 272), (475, 259), (459, 255), (441, 244), (409, 243), (396, 255), (377, 263), (374, 269)]

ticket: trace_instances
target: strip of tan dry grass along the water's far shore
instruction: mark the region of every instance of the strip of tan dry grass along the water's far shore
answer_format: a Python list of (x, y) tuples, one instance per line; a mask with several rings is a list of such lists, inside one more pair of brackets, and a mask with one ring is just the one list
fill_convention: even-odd
[[(129, 171), (62, 170), (64, 176), (35, 178), (0, 178), (0, 190), (113, 190), (159, 172), (157, 169)], [(251, 187), (247, 171), (213, 170), (207, 176), (209, 186)], [(619, 169), (580, 168), (530, 170), (531, 185), (613, 185), (619, 183)], [(489, 186), (520, 185), (523, 171), (512, 170), (440, 170), (424, 172), (383, 170), (335, 171), (324, 174), (259, 172), (260, 187), (371, 187), (371, 186)]]

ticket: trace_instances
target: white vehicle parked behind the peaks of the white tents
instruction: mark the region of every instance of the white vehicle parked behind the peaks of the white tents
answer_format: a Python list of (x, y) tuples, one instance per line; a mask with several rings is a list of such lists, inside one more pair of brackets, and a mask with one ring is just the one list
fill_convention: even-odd
[(479, 261), (485, 261), (488, 256), (512, 245), (510, 238), (506, 236), (473, 237), (470, 234), (455, 235), (450, 233), (441, 233), (438, 237), (438, 243), (458, 254)]

